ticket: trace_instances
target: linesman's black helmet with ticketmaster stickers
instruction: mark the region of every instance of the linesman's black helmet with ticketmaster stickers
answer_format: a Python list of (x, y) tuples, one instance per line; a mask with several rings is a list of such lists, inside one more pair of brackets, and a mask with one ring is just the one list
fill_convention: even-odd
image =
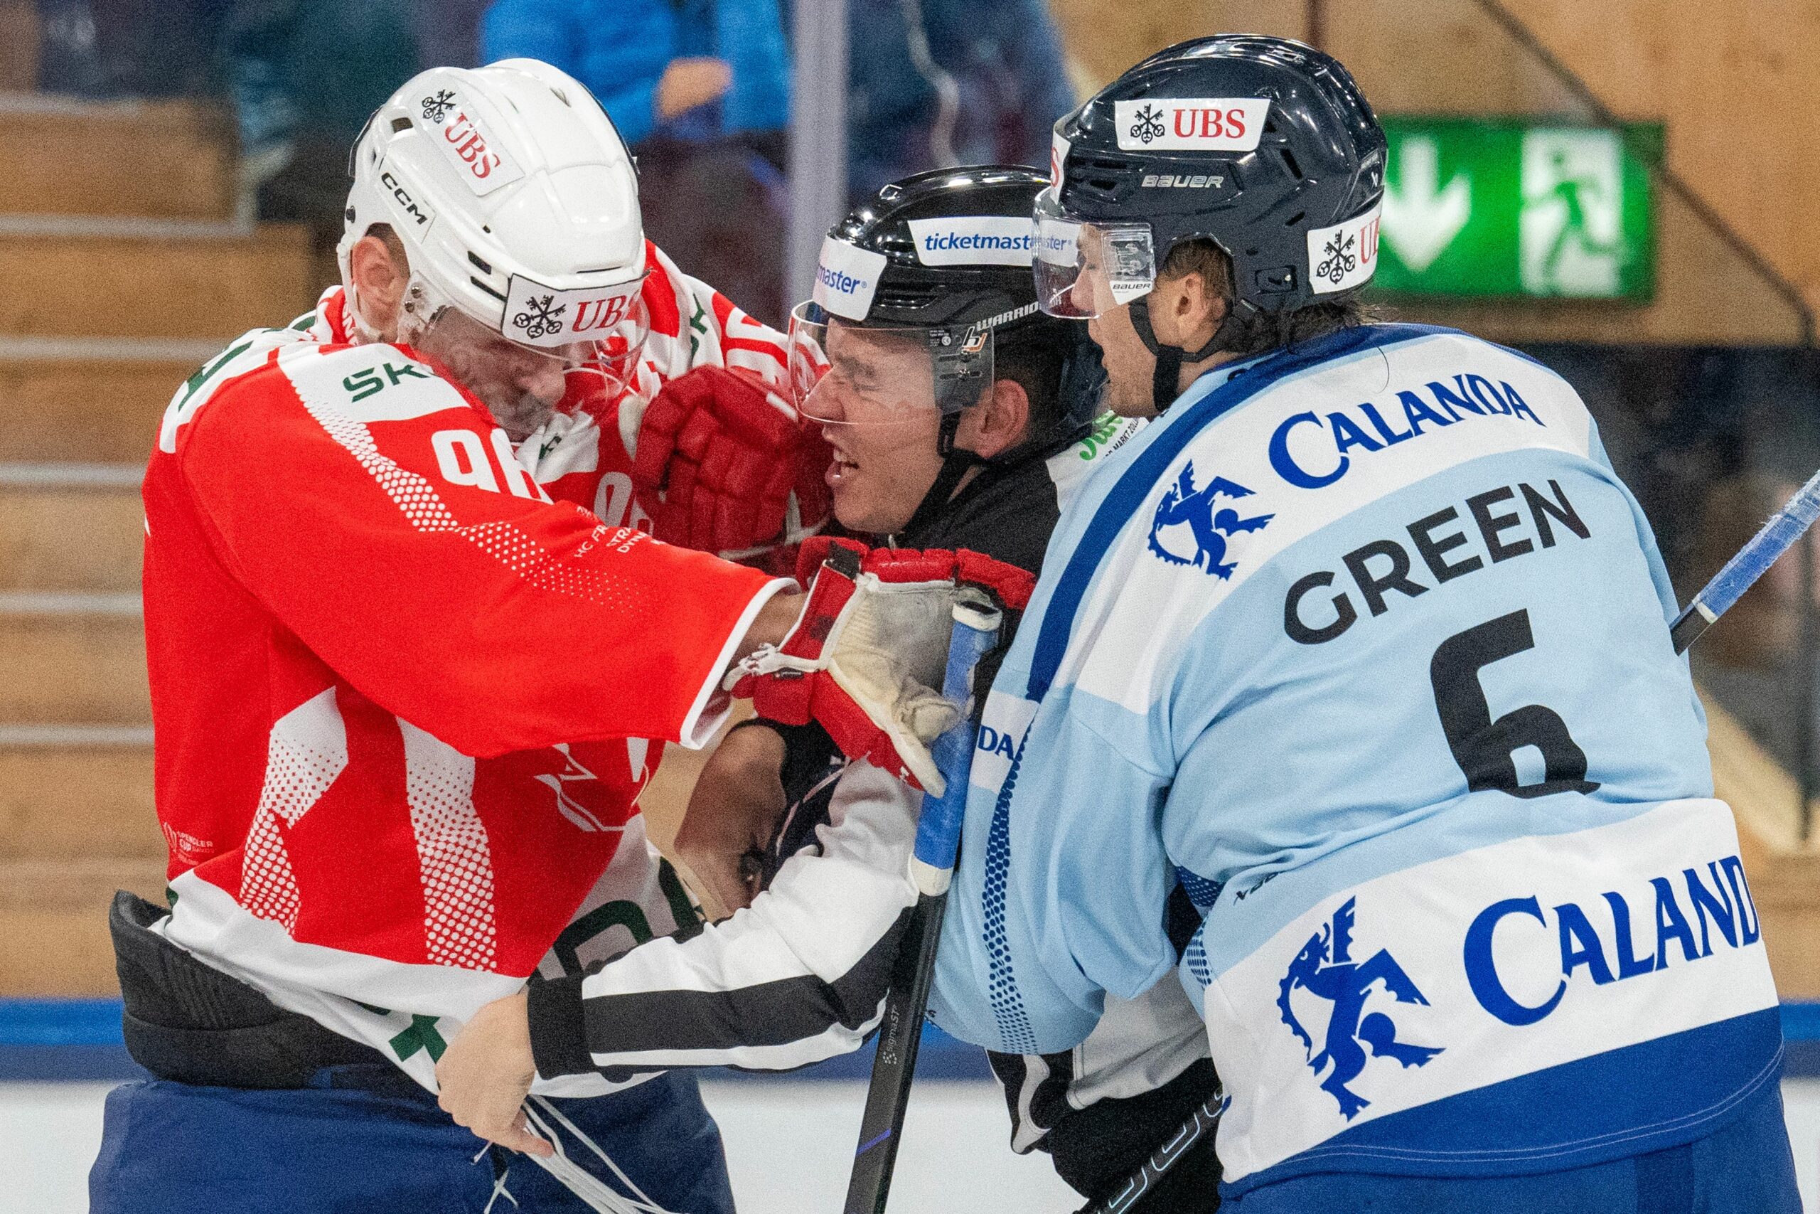
[(892, 182), (835, 224), (821, 248), (814, 298), (792, 311), (792, 384), (804, 415), (828, 326), (899, 333), (930, 353), (941, 453), (959, 413), (992, 384), (996, 351), (1061, 349), (1056, 400), (1032, 400), (1026, 448), (1072, 439), (1099, 411), (1105, 375), (1087, 326), (1041, 311), (1032, 282), (1030, 213), (1048, 186), (1021, 166), (934, 169)]

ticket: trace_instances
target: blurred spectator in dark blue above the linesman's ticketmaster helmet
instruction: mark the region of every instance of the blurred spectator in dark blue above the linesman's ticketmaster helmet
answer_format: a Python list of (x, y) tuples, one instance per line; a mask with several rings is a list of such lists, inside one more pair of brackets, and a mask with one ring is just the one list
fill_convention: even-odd
[(1074, 107), (1045, 0), (848, 0), (848, 195), (954, 164), (1048, 166)]

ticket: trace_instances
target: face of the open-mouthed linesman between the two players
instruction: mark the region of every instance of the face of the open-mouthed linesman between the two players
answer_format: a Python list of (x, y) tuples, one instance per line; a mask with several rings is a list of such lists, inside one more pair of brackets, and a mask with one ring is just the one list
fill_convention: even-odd
[(823, 419), (834, 448), (828, 490), (834, 517), (854, 531), (888, 535), (910, 522), (935, 484), (941, 413), (930, 357), (914, 342), (834, 324), (828, 373), (803, 411)]

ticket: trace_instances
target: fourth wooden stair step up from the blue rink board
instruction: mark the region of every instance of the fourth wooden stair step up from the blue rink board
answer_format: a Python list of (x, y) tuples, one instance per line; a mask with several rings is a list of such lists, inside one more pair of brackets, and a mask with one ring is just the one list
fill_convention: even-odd
[(0, 592), (138, 590), (135, 464), (0, 464)]

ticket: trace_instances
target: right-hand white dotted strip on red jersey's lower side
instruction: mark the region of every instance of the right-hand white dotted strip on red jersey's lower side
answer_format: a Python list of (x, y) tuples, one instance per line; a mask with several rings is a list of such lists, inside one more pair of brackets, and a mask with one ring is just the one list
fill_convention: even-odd
[(424, 954), (433, 965), (493, 968), (493, 854), (473, 806), (473, 759), (399, 721), (404, 799), (424, 888)]

